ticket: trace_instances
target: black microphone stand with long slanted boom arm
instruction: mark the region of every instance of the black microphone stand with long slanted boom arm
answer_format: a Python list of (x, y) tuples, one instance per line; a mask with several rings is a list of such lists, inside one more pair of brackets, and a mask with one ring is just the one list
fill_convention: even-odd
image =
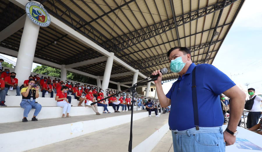
[(108, 99), (108, 98), (110, 98), (112, 96), (116, 96), (116, 95), (121, 94), (121, 93), (123, 93), (125, 91), (131, 90), (131, 92), (132, 92), (132, 105), (131, 105), (130, 139), (129, 139), (129, 144), (128, 144), (128, 152), (132, 152), (132, 139), (133, 139), (132, 130), (133, 130), (134, 96), (135, 96), (135, 92), (136, 92), (136, 87), (141, 86), (141, 85), (145, 85), (148, 82), (155, 81), (155, 80), (157, 80), (157, 77), (156, 78), (152, 78), (151, 80), (148, 80), (146, 82), (142, 82), (142, 81), (145, 81), (145, 80), (139, 81), (138, 83), (134, 84), (132, 87), (130, 87), (130, 88), (126, 89), (126, 90), (123, 90), (121, 92), (118, 92), (116, 94), (108, 96), (108, 97), (106, 97), (106, 98), (104, 98), (102, 100), (95, 101), (95, 102), (91, 103), (91, 105), (94, 105), (94, 104), (96, 104), (96, 103), (98, 103), (100, 101), (103, 101), (105, 99)]

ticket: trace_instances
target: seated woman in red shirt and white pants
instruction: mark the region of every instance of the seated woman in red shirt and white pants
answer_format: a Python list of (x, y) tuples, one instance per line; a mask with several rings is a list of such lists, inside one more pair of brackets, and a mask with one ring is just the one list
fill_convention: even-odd
[[(68, 87), (63, 85), (62, 88), (60, 89), (60, 91), (57, 92), (56, 98), (55, 98), (55, 100), (57, 101), (56, 105), (58, 107), (63, 107), (62, 118), (71, 117), (69, 115), (70, 110), (71, 110), (71, 104), (67, 100), (67, 91), (68, 91), (68, 89), (69, 89)], [(67, 111), (66, 116), (65, 116), (65, 111)]]

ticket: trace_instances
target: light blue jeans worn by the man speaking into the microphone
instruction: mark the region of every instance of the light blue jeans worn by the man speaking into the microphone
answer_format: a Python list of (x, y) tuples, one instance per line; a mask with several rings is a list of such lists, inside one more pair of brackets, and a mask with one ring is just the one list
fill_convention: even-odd
[(174, 152), (224, 152), (226, 143), (222, 127), (199, 127), (172, 131)]

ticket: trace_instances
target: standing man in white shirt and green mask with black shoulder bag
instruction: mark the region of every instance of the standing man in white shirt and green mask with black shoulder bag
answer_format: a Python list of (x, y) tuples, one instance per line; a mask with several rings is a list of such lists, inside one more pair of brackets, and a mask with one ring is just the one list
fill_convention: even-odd
[(250, 95), (249, 99), (255, 98), (252, 109), (249, 110), (248, 115), (247, 115), (247, 128), (252, 128), (253, 126), (255, 126), (258, 123), (259, 118), (261, 117), (260, 105), (261, 105), (262, 98), (260, 96), (255, 95), (254, 88), (249, 88), (247, 92)]

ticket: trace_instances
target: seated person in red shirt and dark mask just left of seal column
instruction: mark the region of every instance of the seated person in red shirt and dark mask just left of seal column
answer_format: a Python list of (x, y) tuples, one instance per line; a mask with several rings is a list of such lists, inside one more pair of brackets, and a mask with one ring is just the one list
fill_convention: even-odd
[(18, 86), (18, 79), (15, 76), (16, 73), (11, 72), (10, 76), (5, 77), (5, 90), (7, 94), (8, 90), (16, 89), (16, 96), (20, 96), (20, 87)]

